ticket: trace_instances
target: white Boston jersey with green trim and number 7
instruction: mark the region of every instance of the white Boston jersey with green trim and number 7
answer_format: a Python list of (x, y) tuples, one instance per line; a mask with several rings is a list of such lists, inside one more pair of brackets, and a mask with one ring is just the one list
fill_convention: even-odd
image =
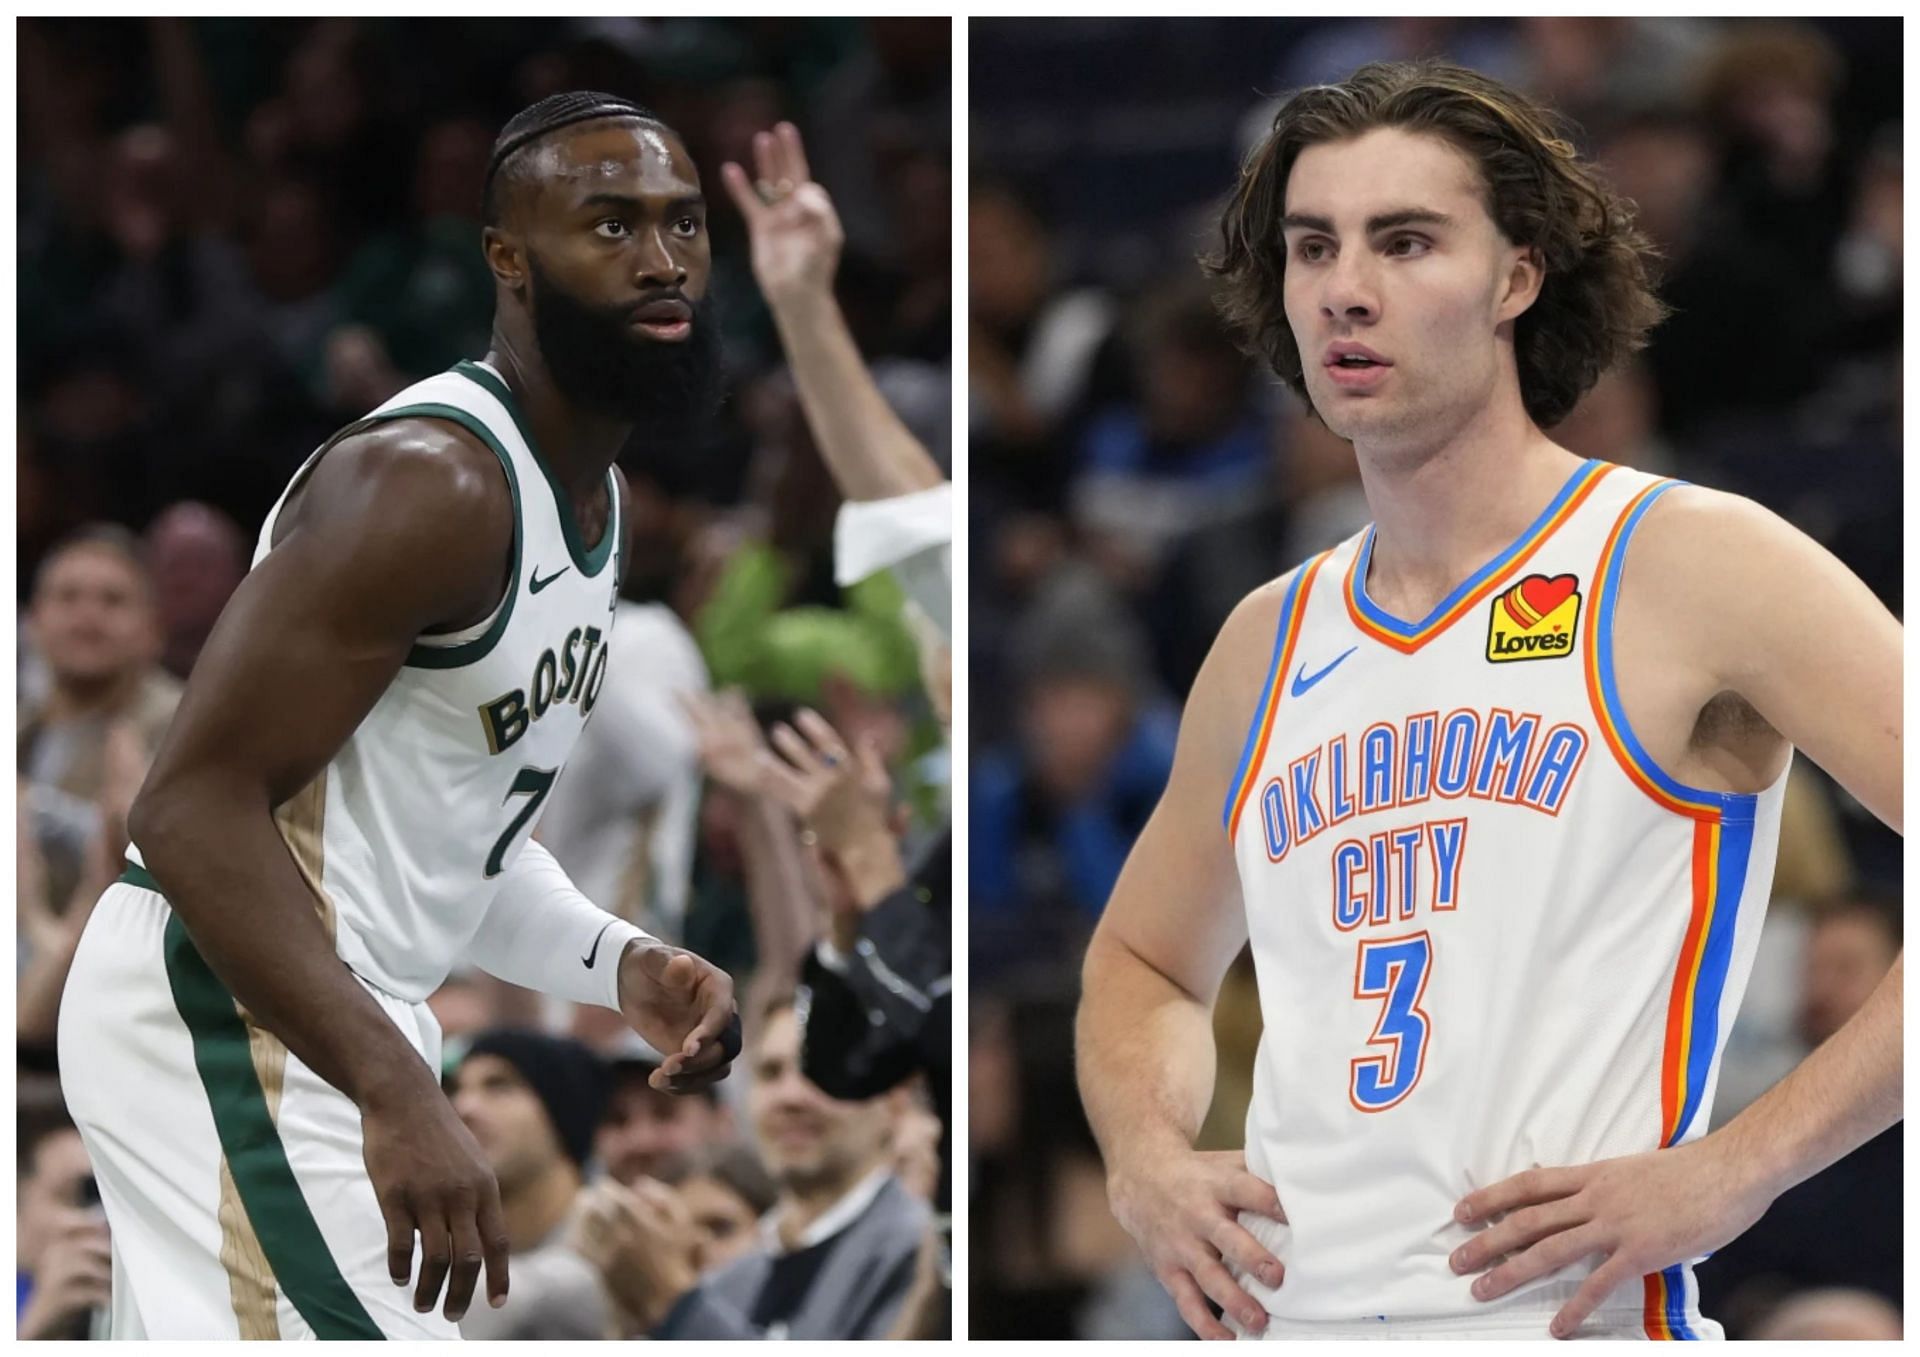
[[(622, 522), (609, 468), (607, 530), (588, 547), (499, 372), (459, 363), (323, 443), (267, 514), (253, 564), (273, 549), (286, 495), (326, 449), (396, 418), (459, 424), (499, 457), (513, 488), (513, 580), (484, 622), (415, 641), (348, 743), (275, 821), (340, 958), (420, 1002), (472, 942), (607, 681)], [(138, 850), (129, 858), (140, 862)]]

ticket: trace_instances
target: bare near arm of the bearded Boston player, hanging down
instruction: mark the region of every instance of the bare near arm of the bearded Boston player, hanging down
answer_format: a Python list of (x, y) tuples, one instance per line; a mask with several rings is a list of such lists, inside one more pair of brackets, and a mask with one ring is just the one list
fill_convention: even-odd
[(280, 541), (213, 630), (129, 816), (148, 869), (257, 1023), (361, 1109), (397, 1284), (447, 1282), (459, 1319), (482, 1261), (507, 1296), (499, 1192), (428, 1069), (334, 954), (273, 808), (380, 699), (422, 631), (499, 601), (513, 505), (499, 463), (432, 422), (342, 440), (282, 511)]

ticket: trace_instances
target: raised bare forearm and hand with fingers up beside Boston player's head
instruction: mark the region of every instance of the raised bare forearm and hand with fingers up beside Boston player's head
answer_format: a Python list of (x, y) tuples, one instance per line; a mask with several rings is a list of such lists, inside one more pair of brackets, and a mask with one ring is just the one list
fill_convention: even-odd
[(753, 274), (835, 484), (849, 499), (939, 486), (939, 464), (874, 386), (833, 299), (845, 234), (833, 200), (812, 179), (799, 129), (780, 123), (758, 132), (753, 155), (753, 180), (732, 163), (720, 175), (753, 236)]

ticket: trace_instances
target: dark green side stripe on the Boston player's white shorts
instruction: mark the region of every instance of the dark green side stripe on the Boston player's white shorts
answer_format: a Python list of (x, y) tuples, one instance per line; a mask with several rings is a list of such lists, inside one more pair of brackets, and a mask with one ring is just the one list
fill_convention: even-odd
[[(154, 879), (144, 869), (136, 875), (129, 864), (121, 881), (144, 885), (138, 877)], [(267, 1109), (234, 996), (200, 956), (179, 914), (167, 917), (165, 956), (173, 1006), (194, 1036), (194, 1067), (207, 1090), (227, 1167), (275, 1280), (315, 1338), (386, 1338), (326, 1251)]]

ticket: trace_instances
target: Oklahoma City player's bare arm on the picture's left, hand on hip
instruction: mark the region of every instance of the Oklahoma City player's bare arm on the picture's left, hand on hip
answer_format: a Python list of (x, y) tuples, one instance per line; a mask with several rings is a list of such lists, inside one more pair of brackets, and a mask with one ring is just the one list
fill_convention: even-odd
[(1265, 1326), (1221, 1259), (1269, 1286), (1281, 1261), (1238, 1225), (1273, 1219), (1273, 1186), (1240, 1152), (1196, 1154), (1213, 1098), (1213, 1000), (1246, 944), (1246, 916), (1219, 806), (1260, 701), (1284, 580), (1235, 608), (1194, 679), (1167, 789), (1127, 854), (1087, 948), (1079, 1086), (1100, 1140), (1114, 1213), (1202, 1338), (1231, 1338), (1212, 1297)]

